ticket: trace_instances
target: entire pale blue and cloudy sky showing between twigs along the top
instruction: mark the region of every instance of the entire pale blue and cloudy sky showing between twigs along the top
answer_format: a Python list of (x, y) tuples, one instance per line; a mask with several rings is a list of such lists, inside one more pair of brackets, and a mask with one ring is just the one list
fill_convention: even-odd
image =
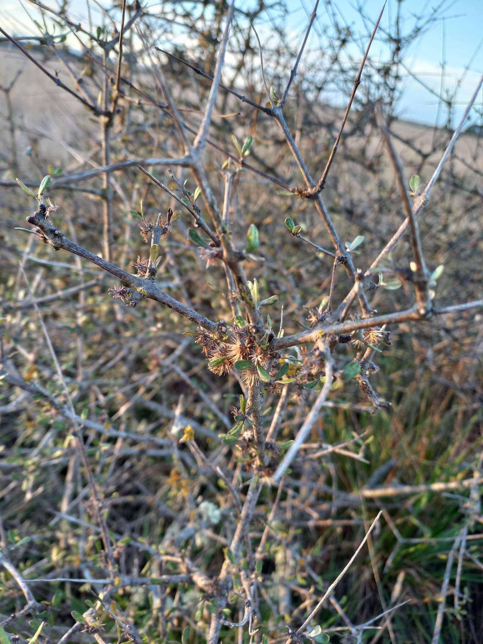
[[(313, 0), (287, 0), (289, 6), (289, 17), (285, 26), (289, 32), (292, 47), (296, 49), (298, 43), (303, 39), (307, 28), (308, 15), (312, 11)], [(381, 10), (382, 0), (360, 0), (363, 10), (368, 17), (365, 23), (359, 10), (355, 8), (356, 0), (334, 0), (333, 5), (336, 7), (337, 19), (341, 23), (350, 26), (357, 45), (351, 46), (350, 54), (357, 58), (361, 56), (361, 51), (365, 49), (368, 39), (368, 29), (370, 24), (374, 24), (377, 15)], [(100, 0), (102, 5), (109, 6), (109, 0)], [(255, 0), (236, 0), (238, 8), (248, 8), (253, 5)], [(44, 0), (48, 6), (57, 6), (56, 0)], [(455, 90), (457, 84), (460, 86), (456, 95), (456, 109), (452, 117), (451, 125), (455, 126), (459, 122), (460, 116), (477, 85), (480, 75), (483, 73), (483, 0), (403, 0), (403, 32), (410, 30), (415, 23), (415, 15), (429, 15), (431, 8), (436, 5), (444, 6), (442, 10), (443, 19), (439, 19), (431, 24), (416, 44), (412, 45), (406, 52), (404, 64), (412, 71), (419, 81), (429, 86), (437, 94), (444, 95), (446, 91), (450, 93)], [(26, 0), (2, 0), (2, 18), (4, 28), (10, 30), (10, 33), (26, 35), (32, 33), (38, 35), (38, 30), (30, 19), (28, 19), (23, 6), (28, 10), (32, 17), (38, 18), (35, 7)], [(70, 15), (73, 19), (85, 21), (86, 17), (86, 0), (71, 0)], [(155, 13), (160, 7), (159, 0), (142, 0), (142, 5), (149, 8), (149, 12)], [(99, 20), (99, 8), (91, 3), (93, 21), (97, 24)], [(381, 27), (388, 30), (393, 25), (395, 13), (397, 11), (397, 0), (388, 0), (384, 10)], [(273, 37), (270, 31), (270, 19), (277, 20), (277, 11), (271, 10), (267, 15), (265, 27), (259, 24), (259, 33), (263, 42), (267, 42)], [(325, 48), (325, 34), (330, 34), (331, 17), (328, 14), (327, 5), (324, 0), (319, 3), (317, 18), (310, 39), (307, 43), (307, 57), (320, 57), (320, 52)], [(441, 82), (441, 64), (443, 61), (442, 44), (444, 41), (444, 63), (445, 73), (442, 86)], [(69, 44), (74, 44), (73, 37), (69, 37)], [(182, 43), (179, 43), (182, 44)], [(188, 46), (188, 43), (184, 43)], [(478, 46), (480, 49), (478, 50)], [(477, 51), (478, 50), (478, 51)], [(476, 52), (476, 53), (475, 53)], [(374, 42), (371, 50), (371, 56), (375, 61), (384, 59), (387, 52), (384, 51), (382, 44)], [(473, 57), (473, 60), (471, 60)], [(308, 58), (307, 58), (308, 59)], [(465, 66), (471, 61), (469, 69), (465, 71)], [(303, 71), (303, 60), (301, 61), (300, 70)], [(462, 80), (461, 80), (462, 79)], [(424, 89), (419, 82), (408, 75), (403, 81), (403, 93), (397, 104), (397, 113), (401, 118), (413, 120), (416, 122), (434, 124), (437, 117), (439, 123), (443, 124), (447, 119), (445, 109), (438, 110), (437, 98)], [(345, 98), (342, 96), (331, 95), (332, 102), (343, 104)], [(478, 97), (476, 108), (471, 114), (473, 122), (482, 122), (482, 98)]]

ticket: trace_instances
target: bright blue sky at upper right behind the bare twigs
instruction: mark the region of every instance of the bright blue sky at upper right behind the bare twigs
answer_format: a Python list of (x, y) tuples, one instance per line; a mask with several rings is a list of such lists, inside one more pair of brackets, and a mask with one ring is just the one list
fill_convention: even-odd
[[(336, 0), (338, 19), (341, 23), (348, 24), (352, 33), (359, 35), (359, 47), (352, 47), (351, 54), (361, 57), (368, 41), (368, 24), (374, 24), (381, 8), (382, 0), (362, 1), (363, 10), (368, 17), (364, 22), (359, 10), (355, 7), (354, 0)], [(403, 33), (410, 32), (415, 24), (416, 15), (430, 15), (433, 6), (439, 5), (439, 0), (404, 0), (401, 6), (403, 17)], [(307, 27), (308, 15), (312, 11), (310, 0), (289, 0), (290, 25), (294, 32), (299, 32), (303, 37)], [(397, 1), (388, 0), (381, 19), (381, 27), (389, 30), (394, 24), (397, 12)], [(439, 95), (448, 91), (453, 93), (458, 84), (455, 97), (455, 111), (451, 118), (451, 125), (456, 126), (473, 94), (478, 80), (483, 73), (483, 0), (448, 0), (443, 3), (443, 10), (439, 19), (422, 33), (417, 43), (408, 48), (403, 59), (408, 70)], [(328, 30), (330, 33), (330, 15), (323, 1), (319, 3), (316, 23), (319, 33)], [(323, 43), (323, 39), (313, 37), (309, 39), (307, 47), (315, 49)], [(374, 60), (383, 60), (387, 51), (382, 43), (374, 41), (370, 55)], [(444, 59), (444, 77), (441, 85), (441, 69)], [(465, 67), (469, 68), (465, 71)], [(406, 72), (403, 82), (403, 94), (397, 105), (401, 118), (434, 124), (439, 117), (439, 123), (446, 123), (448, 111), (439, 109), (437, 97), (424, 89), (422, 85)], [(483, 97), (483, 95), (482, 95)], [(471, 113), (473, 122), (482, 122), (482, 97), (478, 97), (477, 107)], [(342, 102), (342, 100), (341, 100)]]

